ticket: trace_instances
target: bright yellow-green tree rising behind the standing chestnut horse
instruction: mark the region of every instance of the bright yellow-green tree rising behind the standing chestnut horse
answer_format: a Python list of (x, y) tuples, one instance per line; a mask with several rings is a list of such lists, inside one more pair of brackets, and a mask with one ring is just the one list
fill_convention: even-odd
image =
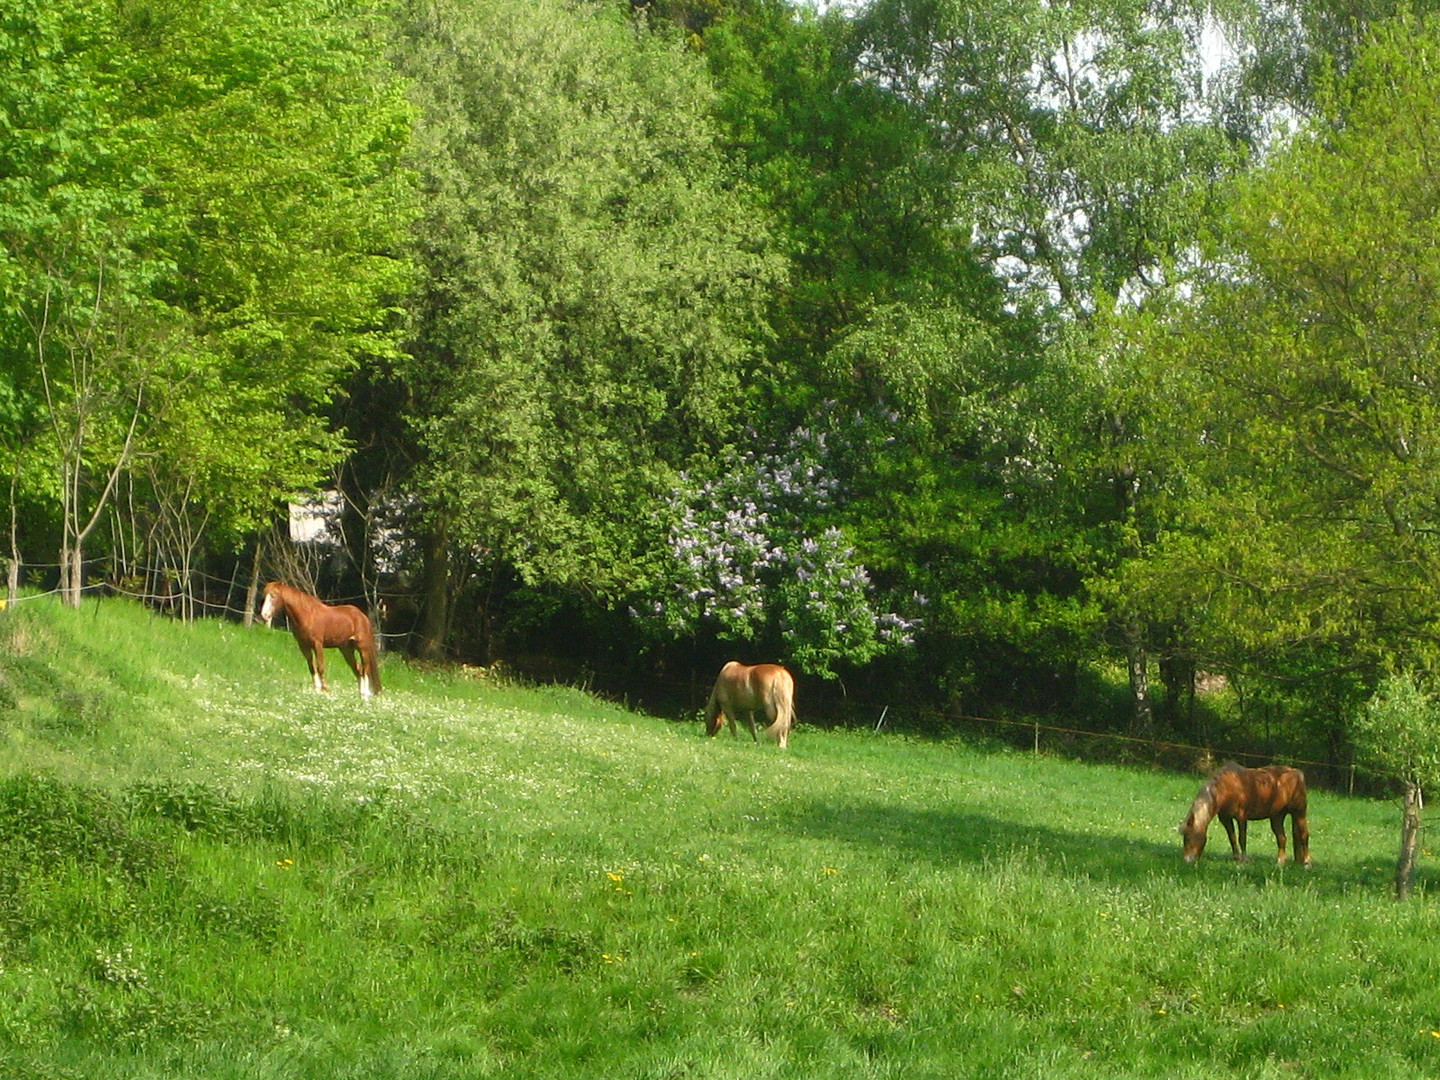
[(311, 0), (125, 26), (125, 99), (164, 131), (160, 295), (190, 330), (144, 471), (183, 582), (204, 537), (233, 543), (331, 474), (344, 438), (323, 406), (403, 330), (412, 111), (380, 30), (366, 4)]

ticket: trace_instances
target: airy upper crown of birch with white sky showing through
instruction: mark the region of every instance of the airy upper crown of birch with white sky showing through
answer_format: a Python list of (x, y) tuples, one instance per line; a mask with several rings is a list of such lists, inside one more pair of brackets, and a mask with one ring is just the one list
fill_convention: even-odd
[(867, 75), (930, 120), (985, 262), (1084, 318), (1165, 279), (1234, 147), (1207, 108), (1207, 7), (874, 0)]

